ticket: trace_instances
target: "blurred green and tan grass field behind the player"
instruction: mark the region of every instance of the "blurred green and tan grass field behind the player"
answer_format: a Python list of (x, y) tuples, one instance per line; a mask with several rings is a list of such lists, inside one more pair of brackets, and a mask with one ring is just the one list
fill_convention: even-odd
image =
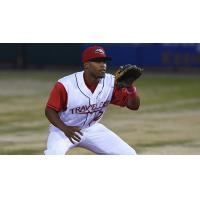
[[(0, 154), (43, 154), (44, 107), (64, 71), (0, 71)], [(109, 106), (102, 123), (138, 154), (200, 154), (200, 75), (144, 74), (137, 112)], [(92, 154), (77, 148), (70, 154)]]

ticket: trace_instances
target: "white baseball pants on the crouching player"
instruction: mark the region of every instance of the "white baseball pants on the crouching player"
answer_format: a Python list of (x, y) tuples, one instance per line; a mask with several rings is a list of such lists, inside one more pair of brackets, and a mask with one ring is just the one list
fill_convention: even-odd
[(75, 144), (62, 131), (50, 132), (45, 155), (65, 155), (74, 147), (83, 147), (103, 155), (136, 155), (132, 147), (100, 123), (82, 129), (81, 132), (81, 141), (75, 141)]

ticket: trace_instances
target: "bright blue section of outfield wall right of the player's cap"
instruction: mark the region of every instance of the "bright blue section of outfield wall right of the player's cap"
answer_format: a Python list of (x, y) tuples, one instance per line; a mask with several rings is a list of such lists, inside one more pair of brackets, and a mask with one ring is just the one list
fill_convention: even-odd
[[(82, 44), (85, 47), (92, 43)], [(110, 66), (126, 63), (137, 64), (145, 68), (200, 68), (200, 44), (95, 44), (103, 46), (112, 57)]]

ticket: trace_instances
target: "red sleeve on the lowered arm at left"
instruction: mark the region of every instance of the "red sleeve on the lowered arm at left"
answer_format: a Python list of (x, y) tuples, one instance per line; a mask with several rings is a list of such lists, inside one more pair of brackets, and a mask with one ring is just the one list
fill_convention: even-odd
[(67, 109), (67, 91), (62, 83), (57, 82), (54, 85), (46, 106), (57, 112)]

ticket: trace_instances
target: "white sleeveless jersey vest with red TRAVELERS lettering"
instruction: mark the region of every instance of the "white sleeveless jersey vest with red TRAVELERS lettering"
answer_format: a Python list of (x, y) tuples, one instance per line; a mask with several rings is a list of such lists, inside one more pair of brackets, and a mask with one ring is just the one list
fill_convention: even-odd
[[(83, 71), (58, 80), (65, 87), (68, 100), (67, 109), (59, 113), (61, 120), (68, 126), (81, 129), (100, 121), (113, 94), (114, 76), (106, 74), (100, 79), (94, 93), (86, 86)], [(51, 125), (52, 129), (57, 129)]]

